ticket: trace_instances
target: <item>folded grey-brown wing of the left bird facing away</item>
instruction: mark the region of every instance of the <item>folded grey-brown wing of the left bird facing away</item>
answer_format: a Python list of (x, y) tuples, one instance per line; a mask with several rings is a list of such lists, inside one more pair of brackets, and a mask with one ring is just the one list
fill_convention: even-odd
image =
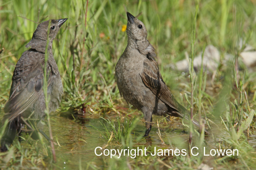
[[(4, 106), (4, 119), (13, 120), (30, 107), (43, 93), (43, 64), (36, 64), (34, 67), (29, 67), (29, 74), (26, 74), (26, 76), (19, 75), (21, 77), (20, 81), (16, 85), (12, 84), (9, 100)], [(24, 68), (23, 72), (26, 72), (26, 68)], [(47, 76), (49, 85), (52, 81), (52, 72), (48, 71)]]

